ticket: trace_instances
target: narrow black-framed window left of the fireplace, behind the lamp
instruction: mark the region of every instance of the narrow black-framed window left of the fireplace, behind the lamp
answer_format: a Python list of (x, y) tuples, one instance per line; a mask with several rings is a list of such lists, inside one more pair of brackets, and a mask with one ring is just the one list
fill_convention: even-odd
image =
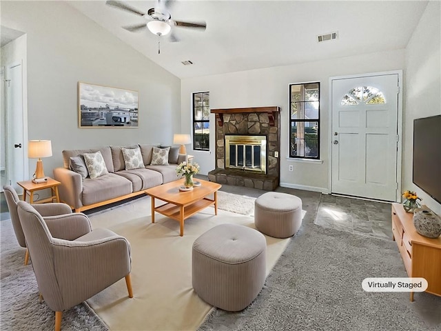
[(193, 93), (193, 148), (209, 150), (209, 92)]

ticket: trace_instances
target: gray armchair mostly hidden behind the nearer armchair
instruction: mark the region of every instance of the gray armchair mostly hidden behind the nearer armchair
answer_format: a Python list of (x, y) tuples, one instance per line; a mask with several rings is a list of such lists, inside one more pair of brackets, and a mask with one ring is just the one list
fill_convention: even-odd
[[(3, 192), (6, 198), (6, 204), (8, 204), (8, 210), (11, 215), (12, 227), (14, 228), (15, 237), (21, 247), (26, 248), (25, 235), (23, 229), (21, 228), (21, 223), (19, 219), (19, 214), (17, 214), (17, 203), (20, 199), (15, 192), (14, 188), (10, 185), (5, 185), (3, 187)], [(61, 214), (72, 214), (72, 209), (65, 203), (47, 203), (47, 204), (35, 204), (34, 208), (43, 217), (61, 215)], [(29, 251), (26, 249), (25, 253), (25, 265), (29, 261)]]

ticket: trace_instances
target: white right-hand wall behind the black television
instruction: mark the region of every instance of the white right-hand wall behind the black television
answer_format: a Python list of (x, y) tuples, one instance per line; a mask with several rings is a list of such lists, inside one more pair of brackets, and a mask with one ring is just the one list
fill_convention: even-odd
[(441, 114), (440, 6), (440, 1), (429, 2), (406, 48), (402, 159), (402, 187), (416, 191), (437, 214), (440, 203), (412, 183), (412, 143), (413, 119)]

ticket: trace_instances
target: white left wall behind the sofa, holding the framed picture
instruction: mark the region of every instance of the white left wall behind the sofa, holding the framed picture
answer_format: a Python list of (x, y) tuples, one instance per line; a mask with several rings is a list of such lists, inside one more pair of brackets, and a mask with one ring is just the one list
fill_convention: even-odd
[[(1, 1), (1, 24), (27, 33), (28, 139), (52, 141), (46, 175), (64, 149), (170, 144), (181, 130), (180, 80), (68, 4)], [(78, 81), (139, 91), (139, 128), (78, 128)]]

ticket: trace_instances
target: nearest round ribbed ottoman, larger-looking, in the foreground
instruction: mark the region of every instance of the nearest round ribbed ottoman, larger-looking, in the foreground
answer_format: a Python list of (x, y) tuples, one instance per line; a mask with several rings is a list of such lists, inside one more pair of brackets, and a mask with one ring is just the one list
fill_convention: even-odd
[(266, 278), (267, 242), (243, 225), (221, 224), (193, 243), (192, 285), (203, 301), (223, 310), (243, 310)]

